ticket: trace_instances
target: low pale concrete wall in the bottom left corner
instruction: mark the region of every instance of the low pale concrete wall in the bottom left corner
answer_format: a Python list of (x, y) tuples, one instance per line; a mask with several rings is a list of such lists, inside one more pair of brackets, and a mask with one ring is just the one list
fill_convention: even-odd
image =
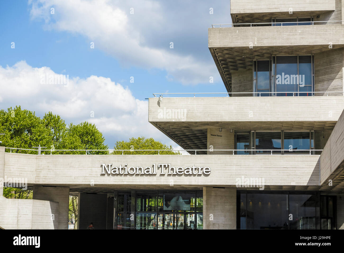
[(57, 202), (0, 196), (0, 227), (4, 229), (57, 229), (58, 218)]

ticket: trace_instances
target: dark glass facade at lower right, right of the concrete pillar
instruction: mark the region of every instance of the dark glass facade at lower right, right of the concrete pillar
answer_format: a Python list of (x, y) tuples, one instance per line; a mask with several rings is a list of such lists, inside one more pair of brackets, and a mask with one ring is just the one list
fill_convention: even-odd
[(238, 191), (237, 202), (238, 229), (333, 229), (335, 224), (334, 197), (319, 192)]

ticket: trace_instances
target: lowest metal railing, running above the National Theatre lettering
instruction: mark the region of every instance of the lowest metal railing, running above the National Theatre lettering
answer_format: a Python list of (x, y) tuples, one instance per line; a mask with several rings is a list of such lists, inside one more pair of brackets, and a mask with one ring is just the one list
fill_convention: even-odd
[[(12, 153), (12, 150), (27, 150), (27, 151), (38, 151), (35, 149), (28, 149), (28, 148), (16, 148), (16, 147), (5, 147), (5, 150), (9, 149), (10, 153)], [(61, 149), (61, 150), (56, 150), (56, 149), (52, 149), (52, 150), (41, 150), (41, 152), (49, 152), (50, 151), (50, 155), (64, 155), (64, 154), (53, 154), (53, 152), (58, 152), (58, 151), (85, 151), (84, 155), (93, 155), (93, 154), (87, 154), (87, 152), (89, 151), (107, 151), (109, 152), (109, 154), (111, 155), (110, 152), (114, 152), (114, 151), (119, 151), (121, 152), (122, 155), (126, 155), (124, 154), (124, 152), (133, 152), (133, 151), (158, 151), (158, 155), (160, 155), (160, 151), (167, 151), (167, 152), (177, 152), (177, 151), (190, 151), (190, 152), (194, 152), (195, 155), (197, 155), (197, 151), (209, 151), (209, 152), (213, 152), (213, 151), (230, 151), (230, 154), (225, 154), (225, 155), (240, 155), (240, 154), (236, 154), (237, 151), (244, 151), (244, 152), (250, 152), (250, 153), (256, 153), (256, 154), (271, 154), (273, 155), (274, 152), (279, 151), (280, 153), (277, 154), (281, 154), (282, 151), (285, 153), (299, 153), (299, 152), (304, 152), (303, 154), (305, 154), (305, 152), (309, 152), (310, 155), (312, 155), (312, 152), (314, 151), (323, 151), (322, 149), (303, 149), (303, 150), (290, 150), (290, 149), (181, 149), (181, 150), (166, 150), (166, 149), (139, 149), (139, 150), (128, 150), (128, 149), (104, 149), (104, 150), (97, 150), (97, 149)], [(266, 151), (264, 153), (261, 153), (263, 151)], [(275, 153), (276, 154), (276, 153)], [(44, 154), (43, 154), (44, 155)], [(69, 154), (67, 154), (69, 155)], [(107, 155), (107, 154), (103, 154), (103, 155)], [(114, 154), (116, 155), (116, 154)], [(130, 155), (130, 154), (129, 154)], [(144, 154), (144, 155), (151, 155), (151, 154)]]

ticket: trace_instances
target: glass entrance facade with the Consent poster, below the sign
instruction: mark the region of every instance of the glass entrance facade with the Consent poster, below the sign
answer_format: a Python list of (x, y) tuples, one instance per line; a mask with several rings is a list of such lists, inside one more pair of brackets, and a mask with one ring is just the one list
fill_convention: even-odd
[[(202, 229), (203, 191), (115, 192), (114, 228)], [(116, 199), (116, 197), (115, 197)], [(116, 211), (117, 210), (117, 211)], [(117, 224), (116, 224), (117, 222)]]

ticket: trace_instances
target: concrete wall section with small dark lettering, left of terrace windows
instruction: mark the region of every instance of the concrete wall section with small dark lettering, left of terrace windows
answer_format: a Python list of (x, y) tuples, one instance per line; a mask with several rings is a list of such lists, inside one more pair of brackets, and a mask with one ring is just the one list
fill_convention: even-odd
[[(234, 149), (234, 131), (232, 133), (229, 129), (222, 129), (220, 132), (218, 128), (208, 128), (207, 132), (207, 149), (210, 146), (213, 146), (213, 149)], [(230, 151), (207, 151), (207, 154), (212, 155), (226, 155), (233, 154)]]

